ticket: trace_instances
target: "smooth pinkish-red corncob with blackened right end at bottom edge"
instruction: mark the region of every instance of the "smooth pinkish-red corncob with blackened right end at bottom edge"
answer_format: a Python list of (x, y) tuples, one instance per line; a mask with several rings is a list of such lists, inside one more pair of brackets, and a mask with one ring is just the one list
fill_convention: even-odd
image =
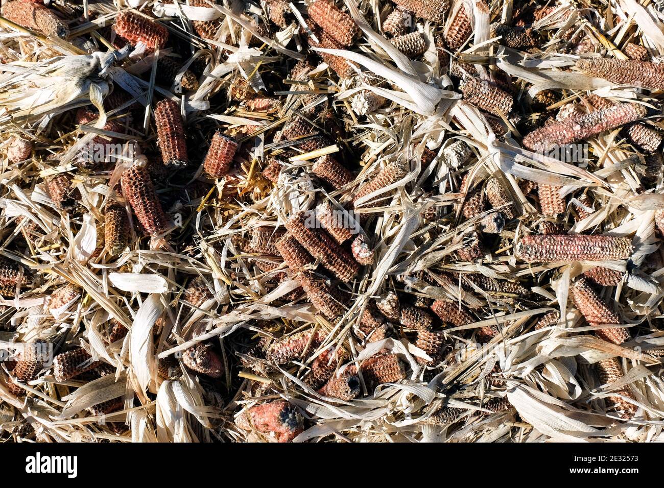
[(236, 425), (243, 430), (274, 432), (279, 442), (291, 442), (304, 431), (302, 415), (286, 400), (252, 406), (236, 418)]

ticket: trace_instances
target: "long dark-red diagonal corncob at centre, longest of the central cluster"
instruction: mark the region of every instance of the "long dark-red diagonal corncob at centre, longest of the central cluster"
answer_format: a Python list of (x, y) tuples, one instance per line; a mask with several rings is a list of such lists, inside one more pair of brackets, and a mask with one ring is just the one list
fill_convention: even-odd
[(312, 223), (311, 220), (315, 220), (315, 216), (307, 216), (307, 212), (299, 212), (288, 220), (286, 228), (309, 251), (309, 254), (321, 260), (323, 266), (333, 272), (336, 278), (343, 282), (353, 280), (359, 268), (357, 262), (348, 252), (340, 248), (327, 232), (312, 228), (315, 223)]

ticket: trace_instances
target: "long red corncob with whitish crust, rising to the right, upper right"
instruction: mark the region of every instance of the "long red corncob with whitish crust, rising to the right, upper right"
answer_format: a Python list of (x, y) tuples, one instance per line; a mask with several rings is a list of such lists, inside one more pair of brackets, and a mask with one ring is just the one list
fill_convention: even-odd
[(533, 151), (546, 151), (554, 145), (586, 139), (625, 123), (634, 122), (647, 116), (647, 112), (647, 108), (643, 105), (630, 103), (611, 106), (590, 114), (571, 116), (529, 133), (523, 138), (523, 145)]

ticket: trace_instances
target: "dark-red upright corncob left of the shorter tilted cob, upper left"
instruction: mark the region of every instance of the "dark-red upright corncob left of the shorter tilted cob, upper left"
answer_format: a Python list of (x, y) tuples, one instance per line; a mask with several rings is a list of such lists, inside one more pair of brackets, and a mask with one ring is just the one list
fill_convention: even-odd
[(182, 124), (179, 104), (169, 99), (161, 100), (155, 107), (155, 124), (164, 164), (175, 167), (186, 166), (189, 157), (187, 157), (185, 127)]

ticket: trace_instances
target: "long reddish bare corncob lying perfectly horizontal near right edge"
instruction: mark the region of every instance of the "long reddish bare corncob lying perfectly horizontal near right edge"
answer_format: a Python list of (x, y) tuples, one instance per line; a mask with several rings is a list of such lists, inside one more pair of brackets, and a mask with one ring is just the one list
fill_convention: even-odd
[(627, 259), (631, 252), (629, 238), (582, 234), (524, 236), (515, 248), (517, 258), (527, 263)]

